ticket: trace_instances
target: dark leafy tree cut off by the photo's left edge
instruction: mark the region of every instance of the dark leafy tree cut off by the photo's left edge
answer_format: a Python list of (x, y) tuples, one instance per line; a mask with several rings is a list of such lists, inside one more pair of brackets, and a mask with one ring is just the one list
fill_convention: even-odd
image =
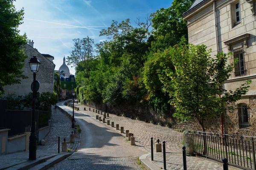
[(20, 35), (18, 26), (22, 24), (24, 10), (16, 11), (14, 0), (0, 2), (0, 94), (3, 87), (20, 83), (27, 78), (22, 73), (27, 58), (23, 52), (26, 45), (26, 34)]

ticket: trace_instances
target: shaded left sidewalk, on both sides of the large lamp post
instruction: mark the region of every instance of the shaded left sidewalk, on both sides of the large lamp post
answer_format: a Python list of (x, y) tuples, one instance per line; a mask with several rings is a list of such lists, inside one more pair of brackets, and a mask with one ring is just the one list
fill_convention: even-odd
[[(50, 127), (50, 132), (44, 138), (45, 145), (38, 145), (37, 148), (37, 159), (43, 156), (52, 156), (58, 154), (58, 136), (60, 136), (61, 142), (64, 138), (66, 138), (67, 142), (70, 141), (70, 134), (72, 131), (71, 121), (67, 118), (66, 115), (61, 113), (61, 111), (57, 110), (54, 113), (54, 109), (52, 109), (52, 125)], [(68, 148), (71, 151), (76, 150), (80, 145), (80, 134), (79, 137), (76, 138), (75, 143), (68, 144)], [(61, 151), (61, 147), (60, 147)], [(29, 151), (11, 153), (0, 156), (0, 169), (1, 167), (5, 167), (7, 165), (16, 165), (21, 164), (23, 162), (28, 161)]]

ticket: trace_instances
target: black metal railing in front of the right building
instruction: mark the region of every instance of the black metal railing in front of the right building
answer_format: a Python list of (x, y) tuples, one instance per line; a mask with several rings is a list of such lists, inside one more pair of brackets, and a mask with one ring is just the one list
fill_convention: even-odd
[(256, 137), (189, 131), (194, 153), (217, 161), (227, 158), (228, 163), (245, 169), (256, 170)]

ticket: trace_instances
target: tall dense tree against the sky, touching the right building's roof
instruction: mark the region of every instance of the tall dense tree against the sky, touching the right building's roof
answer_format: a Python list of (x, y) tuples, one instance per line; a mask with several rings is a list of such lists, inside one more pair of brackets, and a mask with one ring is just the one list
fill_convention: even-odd
[(178, 44), (182, 37), (188, 39), (187, 22), (182, 19), (182, 15), (193, 2), (194, 0), (173, 0), (169, 8), (160, 8), (151, 14), (154, 28), (151, 51), (163, 51)]

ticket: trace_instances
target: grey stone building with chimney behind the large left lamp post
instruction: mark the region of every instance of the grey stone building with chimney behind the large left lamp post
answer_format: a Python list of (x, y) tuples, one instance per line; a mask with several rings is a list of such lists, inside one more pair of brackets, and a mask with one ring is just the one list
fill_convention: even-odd
[(29, 77), (28, 79), (21, 79), (21, 84), (6, 85), (4, 87), (5, 94), (16, 94), (25, 95), (31, 91), (31, 83), (33, 82), (33, 73), (30, 70), (29, 60), (35, 55), (41, 62), (39, 71), (36, 75), (36, 79), (40, 82), (39, 92), (53, 92), (54, 85), (54, 68), (53, 63), (54, 57), (49, 54), (41, 54), (36, 48), (34, 48), (33, 40), (29, 40), (28, 44), (24, 47), (24, 52), (28, 56), (25, 60), (25, 65), (23, 68), (23, 75)]

